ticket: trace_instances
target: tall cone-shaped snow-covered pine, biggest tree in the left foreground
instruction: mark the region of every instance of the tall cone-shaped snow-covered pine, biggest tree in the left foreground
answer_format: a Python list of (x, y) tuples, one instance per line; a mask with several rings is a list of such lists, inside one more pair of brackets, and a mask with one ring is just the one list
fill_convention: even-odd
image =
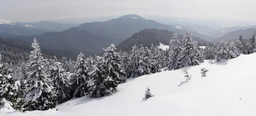
[(25, 110), (48, 110), (58, 104), (56, 95), (53, 92), (50, 80), (47, 79), (44, 69), (44, 58), (41, 56), (39, 45), (34, 39), (34, 48), (29, 55), (27, 67), (28, 87), (26, 89), (26, 109)]

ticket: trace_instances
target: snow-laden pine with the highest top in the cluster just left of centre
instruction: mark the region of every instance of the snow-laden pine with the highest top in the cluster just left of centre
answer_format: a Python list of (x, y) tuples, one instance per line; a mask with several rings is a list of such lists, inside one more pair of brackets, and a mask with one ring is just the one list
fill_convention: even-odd
[(121, 55), (116, 52), (116, 47), (112, 43), (109, 47), (104, 49), (103, 58), (105, 59), (108, 66), (108, 76), (110, 76), (117, 84), (126, 82), (125, 72), (122, 70), (122, 59)]

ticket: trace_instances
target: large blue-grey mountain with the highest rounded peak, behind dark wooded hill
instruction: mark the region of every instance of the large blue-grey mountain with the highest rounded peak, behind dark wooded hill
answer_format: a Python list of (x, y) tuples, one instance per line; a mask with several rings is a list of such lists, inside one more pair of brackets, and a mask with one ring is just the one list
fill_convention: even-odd
[[(178, 32), (180, 35), (185, 34), (183, 29), (173, 28), (154, 20), (146, 20), (135, 14), (128, 14), (108, 21), (83, 23), (78, 27), (72, 27), (62, 32), (45, 32), (41, 35), (18, 36), (12, 39), (32, 43), (33, 39), (37, 38), (41, 47), (76, 58), (80, 51), (85, 55), (102, 53), (102, 48), (109, 46), (111, 43), (119, 44), (143, 29), (166, 29)], [(148, 33), (156, 37), (155, 39), (162, 36), (154, 35), (156, 33), (151, 31), (148, 31)], [(205, 42), (203, 39), (196, 41)]]

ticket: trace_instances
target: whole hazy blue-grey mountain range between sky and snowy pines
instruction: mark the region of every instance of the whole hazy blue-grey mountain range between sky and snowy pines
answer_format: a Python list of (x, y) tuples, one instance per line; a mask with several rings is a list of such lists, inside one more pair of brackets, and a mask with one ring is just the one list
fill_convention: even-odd
[(29, 44), (37, 38), (43, 49), (50, 49), (60, 56), (76, 58), (80, 51), (87, 56), (100, 54), (103, 52), (102, 48), (111, 43), (126, 51), (131, 50), (134, 44), (150, 46), (151, 43), (158, 45), (161, 42), (168, 45), (173, 32), (179, 34), (181, 41), (186, 28), (191, 30), (195, 41), (215, 43), (220, 38), (224, 40), (237, 38), (240, 33), (244, 35), (244, 38), (249, 38), (253, 32), (250, 28), (255, 27), (218, 29), (196, 24), (167, 25), (154, 20), (146, 20), (136, 14), (128, 14), (108, 21), (82, 24), (61, 24), (51, 21), (20, 23), (0, 20), (0, 37)]

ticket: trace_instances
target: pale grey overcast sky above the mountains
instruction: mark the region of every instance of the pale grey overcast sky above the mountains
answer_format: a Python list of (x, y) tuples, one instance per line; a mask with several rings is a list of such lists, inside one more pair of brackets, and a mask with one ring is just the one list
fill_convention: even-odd
[(0, 0), (0, 19), (29, 22), (125, 14), (256, 20), (256, 0)]

